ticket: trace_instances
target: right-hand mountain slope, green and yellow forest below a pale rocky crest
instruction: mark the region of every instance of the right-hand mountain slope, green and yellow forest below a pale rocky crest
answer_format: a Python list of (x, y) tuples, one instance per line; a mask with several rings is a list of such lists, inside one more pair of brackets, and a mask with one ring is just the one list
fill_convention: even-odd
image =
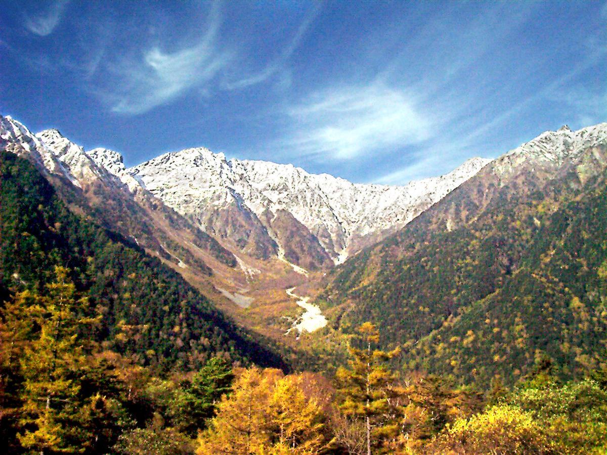
[(543, 133), (339, 266), (322, 298), (345, 330), (379, 323), (410, 368), (482, 382), (541, 352), (568, 374), (605, 362), (606, 168), (607, 124)]

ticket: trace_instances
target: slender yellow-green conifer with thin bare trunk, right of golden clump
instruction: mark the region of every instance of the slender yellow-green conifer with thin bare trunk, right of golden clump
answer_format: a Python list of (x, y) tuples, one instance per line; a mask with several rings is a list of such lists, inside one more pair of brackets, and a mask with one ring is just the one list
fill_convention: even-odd
[(371, 448), (398, 433), (399, 395), (401, 389), (388, 369), (387, 362), (398, 354), (372, 347), (379, 342), (379, 331), (365, 322), (358, 329), (362, 348), (350, 346), (350, 368), (339, 368), (336, 373), (338, 391), (342, 396), (341, 409), (345, 416), (364, 420), (367, 454)]

